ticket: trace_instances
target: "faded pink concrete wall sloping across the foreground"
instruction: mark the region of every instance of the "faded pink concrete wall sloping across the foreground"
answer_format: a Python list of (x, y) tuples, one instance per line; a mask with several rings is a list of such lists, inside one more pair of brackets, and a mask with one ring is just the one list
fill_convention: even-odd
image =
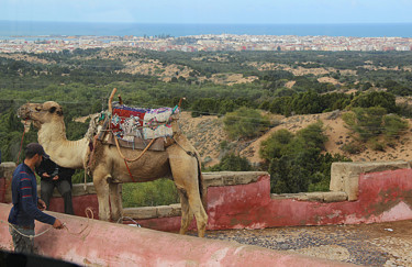
[[(11, 251), (0, 204), (0, 248)], [(38, 254), (86, 266), (350, 266), (234, 242), (214, 241), (49, 212), (68, 230), (51, 230), (34, 240)], [(36, 223), (36, 233), (49, 225)]]

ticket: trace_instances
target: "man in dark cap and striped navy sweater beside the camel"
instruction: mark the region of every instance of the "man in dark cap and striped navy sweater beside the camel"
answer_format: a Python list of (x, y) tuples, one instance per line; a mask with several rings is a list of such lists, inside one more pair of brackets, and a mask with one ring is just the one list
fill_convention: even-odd
[(14, 252), (33, 253), (33, 238), (24, 235), (34, 235), (34, 220), (63, 229), (62, 222), (42, 212), (46, 204), (37, 198), (37, 182), (34, 175), (43, 157), (47, 157), (43, 147), (37, 143), (31, 143), (25, 147), (25, 158), (14, 173), (11, 181), (13, 207), (10, 210), (10, 234), (13, 238)]

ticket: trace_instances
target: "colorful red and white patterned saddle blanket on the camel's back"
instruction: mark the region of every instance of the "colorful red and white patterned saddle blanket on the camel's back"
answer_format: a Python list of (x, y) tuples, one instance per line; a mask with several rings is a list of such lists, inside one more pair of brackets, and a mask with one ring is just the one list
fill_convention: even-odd
[(152, 140), (172, 136), (171, 115), (179, 108), (136, 109), (126, 105), (113, 108), (111, 129), (113, 133), (129, 142), (134, 138)]

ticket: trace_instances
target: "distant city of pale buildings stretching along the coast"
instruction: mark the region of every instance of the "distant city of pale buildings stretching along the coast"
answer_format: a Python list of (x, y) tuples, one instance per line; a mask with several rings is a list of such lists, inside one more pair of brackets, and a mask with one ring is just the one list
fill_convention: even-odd
[(0, 53), (58, 53), (130, 47), (152, 51), (411, 51), (411, 37), (204, 34), (170, 36), (13, 36), (0, 40)]

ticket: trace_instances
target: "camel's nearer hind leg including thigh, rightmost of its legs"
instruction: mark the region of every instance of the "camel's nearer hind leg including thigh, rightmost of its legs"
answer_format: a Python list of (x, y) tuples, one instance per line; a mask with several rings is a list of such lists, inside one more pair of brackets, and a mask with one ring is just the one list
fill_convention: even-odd
[[(199, 192), (198, 160), (186, 154), (178, 146), (168, 149), (171, 174), (177, 188), (185, 189), (188, 196), (189, 209), (194, 213), (199, 237), (204, 236), (208, 214), (204, 211)], [(183, 208), (183, 207), (182, 207)], [(182, 210), (183, 212), (183, 210)]]

